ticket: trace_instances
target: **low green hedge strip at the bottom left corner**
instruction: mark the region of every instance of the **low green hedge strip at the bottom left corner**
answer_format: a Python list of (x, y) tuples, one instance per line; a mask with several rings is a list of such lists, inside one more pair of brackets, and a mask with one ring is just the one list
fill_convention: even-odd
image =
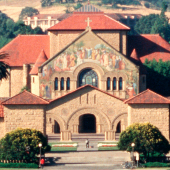
[(35, 163), (0, 163), (0, 168), (38, 168)]

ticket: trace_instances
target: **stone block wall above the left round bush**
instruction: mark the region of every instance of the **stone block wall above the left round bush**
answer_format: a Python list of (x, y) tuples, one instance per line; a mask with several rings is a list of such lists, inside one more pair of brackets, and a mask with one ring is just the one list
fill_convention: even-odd
[(17, 128), (32, 128), (45, 134), (44, 106), (6, 105), (4, 106), (5, 133)]

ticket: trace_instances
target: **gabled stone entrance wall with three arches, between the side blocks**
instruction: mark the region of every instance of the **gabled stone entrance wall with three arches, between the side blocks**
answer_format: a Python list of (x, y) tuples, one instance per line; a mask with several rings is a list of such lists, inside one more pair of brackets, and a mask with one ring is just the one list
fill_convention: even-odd
[[(95, 116), (97, 133), (104, 133), (116, 127), (119, 123), (117, 119), (122, 119), (124, 128), (127, 126), (127, 105), (123, 101), (92, 87), (85, 87), (47, 106), (47, 133), (52, 133), (55, 120), (60, 131), (70, 130), (72, 133), (78, 133), (79, 117), (84, 114)], [(120, 118), (122, 114), (126, 116)]]

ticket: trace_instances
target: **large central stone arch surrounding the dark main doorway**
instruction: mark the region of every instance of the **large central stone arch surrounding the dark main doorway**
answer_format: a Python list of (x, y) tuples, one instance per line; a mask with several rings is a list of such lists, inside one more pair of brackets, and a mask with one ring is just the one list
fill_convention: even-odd
[(96, 133), (104, 133), (106, 130), (111, 129), (111, 121), (107, 115), (97, 108), (85, 107), (76, 110), (70, 115), (67, 121), (68, 130), (73, 133), (78, 133), (79, 117), (87, 113), (94, 115), (96, 118)]

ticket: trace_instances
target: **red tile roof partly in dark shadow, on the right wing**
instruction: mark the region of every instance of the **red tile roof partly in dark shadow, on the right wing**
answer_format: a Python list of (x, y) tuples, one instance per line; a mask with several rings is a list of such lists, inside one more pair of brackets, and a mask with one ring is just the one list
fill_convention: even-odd
[(129, 56), (134, 58), (134, 49), (136, 56), (144, 63), (145, 59), (159, 61), (170, 60), (170, 44), (158, 34), (142, 34), (140, 36), (128, 37)]

